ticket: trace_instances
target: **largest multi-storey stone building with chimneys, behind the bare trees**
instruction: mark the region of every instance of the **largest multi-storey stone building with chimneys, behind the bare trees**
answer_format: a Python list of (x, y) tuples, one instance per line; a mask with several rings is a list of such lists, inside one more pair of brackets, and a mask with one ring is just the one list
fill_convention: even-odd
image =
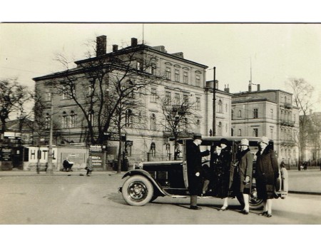
[[(113, 63), (116, 60), (117, 66)], [(95, 79), (102, 81), (101, 100), (107, 98), (103, 105), (106, 108), (108, 103), (113, 103), (108, 98), (117, 100), (115, 95), (111, 95), (116, 93), (116, 82), (126, 84), (128, 78), (132, 81), (151, 81), (133, 93), (133, 98), (138, 99), (139, 103), (134, 108), (128, 108), (123, 118), (125, 125), (121, 134), (126, 134), (126, 143), (130, 143), (124, 148), (131, 162), (173, 158), (177, 146), (174, 145), (173, 130), (168, 119), (170, 116), (178, 118), (182, 110), (188, 110), (188, 113), (177, 125), (178, 136), (188, 136), (195, 132), (210, 135), (213, 131), (213, 81), (206, 82), (208, 66), (184, 58), (182, 52), (168, 53), (164, 46), (138, 44), (137, 39), (133, 38), (131, 46), (118, 49), (117, 45), (113, 45), (113, 50), (107, 53), (106, 36), (99, 36), (96, 39), (96, 56), (75, 63), (75, 68), (34, 78), (36, 92), (44, 98), (47, 106), (44, 112), (46, 128), (49, 128), (50, 116), (54, 116), (56, 145), (88, 143), (86, 121), (98, 124), (98, 116), (95, 115), (97, 110), (89, 113), (86, 118), (80, 106), (89, 103), (86, 93), (93, 90)], [(91, 68), (97, 65), (105, 70), (95, 77)], [(119, 78), (125, 78), (126, 73), (127, 78), (121, 81)], [(57, 87), (53, 88), (52, 81), (60, 81), (58, 91)], [(69, 89), (72, 87), (71, 93), (64, 91), (67, 85)], [(77, 95), (78, 102), (73, 100), (74, 95)], [(232, 95), (225, 88), (224, 91), (215, 91), (215, 96), (216, 135), (228, 136)], [(94, 99), (91, 98), (91, 103)], [(139, 111), (138, 120), (131, 118), (133, 111)], [(112, 140), (113, 135), (118, 133), (115, 128), (109, 128), (106, 134), (112, 135), (107, 142), (110, 151), (108, 158), (116, 158), (118, 143)]]

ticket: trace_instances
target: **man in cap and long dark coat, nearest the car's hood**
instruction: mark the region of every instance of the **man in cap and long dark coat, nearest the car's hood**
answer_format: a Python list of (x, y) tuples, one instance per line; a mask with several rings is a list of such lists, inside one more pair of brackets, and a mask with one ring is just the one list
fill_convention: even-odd
[(186, 161), (188, 168), (188, 190), (190, 192), (190, 209), (200, 210), (198, 207), (198, 195), (202, 193), (203, 175), (202, 175), (202, 157), (210, 155), (209, 150), (200, 152), (200, 143), (202, 143), (202, 135), (195, 133), (193, 142), (186, 143)]

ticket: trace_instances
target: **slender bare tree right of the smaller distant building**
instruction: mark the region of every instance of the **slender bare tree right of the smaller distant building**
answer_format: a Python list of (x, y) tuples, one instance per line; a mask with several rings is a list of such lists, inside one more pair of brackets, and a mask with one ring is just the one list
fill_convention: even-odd
[(314, 87), (305, 81), (303, 78), (290, 78), (287, 81), (287, 84), (292, 88), (295, 106), (299, 108), (300, 114), (300, 138), (299, 138), (299, 163), (300, 165), (302, 161), (305, 159), (304, 153), (305, 148), (307, 146), (307, 137), (308, 137), (308, 130), (309, 128), (309, 117), (308, 113), (312, 108), (313, 102), (311, 101), (312, 93), (314, 91)]

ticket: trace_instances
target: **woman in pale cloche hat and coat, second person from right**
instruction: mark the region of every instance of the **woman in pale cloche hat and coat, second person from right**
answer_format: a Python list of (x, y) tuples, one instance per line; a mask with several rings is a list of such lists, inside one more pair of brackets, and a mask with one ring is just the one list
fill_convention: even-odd
[(235, 193), (241, 193), (243, 195), (244, 207), (241, 211), (243, 214), (248, 215), (250, 210), (249, 195), (251, 193), (252, 186), (252, 173), (253, 173), (253, 155), (250, 153), (248, 139), (242, 139), (241, 151), (238, 155), (238, 171), (235, 175)]

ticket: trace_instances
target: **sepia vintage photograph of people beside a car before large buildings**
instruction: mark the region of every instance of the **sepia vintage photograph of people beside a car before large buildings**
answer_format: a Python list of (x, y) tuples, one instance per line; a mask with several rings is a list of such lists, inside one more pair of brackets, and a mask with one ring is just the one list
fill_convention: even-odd
[(2, 225), (320, 225), (321, 24), (0, 33)]

